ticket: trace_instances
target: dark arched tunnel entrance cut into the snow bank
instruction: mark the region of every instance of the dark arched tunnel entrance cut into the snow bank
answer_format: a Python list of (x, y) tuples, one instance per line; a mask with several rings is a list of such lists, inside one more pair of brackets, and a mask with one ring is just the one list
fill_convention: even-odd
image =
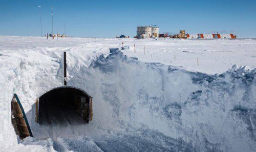
[(53, 125), (89, 123), (92, 120), (92, 97), (86, 92), (61, 86), (36, 100), (36, 122)]

